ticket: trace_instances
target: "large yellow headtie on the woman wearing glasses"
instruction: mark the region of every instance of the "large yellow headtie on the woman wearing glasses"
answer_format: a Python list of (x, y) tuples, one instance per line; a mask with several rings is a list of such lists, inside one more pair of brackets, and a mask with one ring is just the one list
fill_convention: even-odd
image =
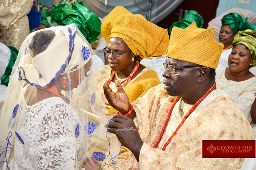
[(167, 29), (147, 21), (142, 15), (132, 14), (122, 6), (109, 13), (101, 25), (101, 34), (107, 43), (111, 37), (122, 38), (140, 58), (162, 57), (169, 43)]

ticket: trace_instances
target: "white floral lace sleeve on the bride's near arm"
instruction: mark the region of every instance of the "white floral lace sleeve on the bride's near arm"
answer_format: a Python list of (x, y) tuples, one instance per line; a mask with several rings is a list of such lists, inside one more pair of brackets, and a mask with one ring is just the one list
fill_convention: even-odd
[(73, 170), (76, 156), (74, 122), (65, 104), (50, 108), (42, 121), (41, 145), (39, 145), (40, 170)]

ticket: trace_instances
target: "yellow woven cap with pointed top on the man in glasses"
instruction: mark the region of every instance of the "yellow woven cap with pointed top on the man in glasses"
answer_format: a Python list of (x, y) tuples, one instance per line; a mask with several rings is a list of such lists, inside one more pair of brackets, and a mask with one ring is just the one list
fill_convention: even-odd
[(166, 56), (216, 69), (223, 44), (215, 40), (214, 27), (197, 28), (195, 22), (186, 29), (173, 27)]

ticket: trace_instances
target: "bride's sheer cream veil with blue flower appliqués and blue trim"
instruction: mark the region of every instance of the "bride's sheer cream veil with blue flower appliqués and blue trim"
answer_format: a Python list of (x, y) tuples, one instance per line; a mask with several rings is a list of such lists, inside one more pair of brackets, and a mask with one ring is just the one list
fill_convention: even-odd
[[(75, 24), (50, 27), (28, 35), (19, 50), (0, 112), (0, 162), (3, 170), (9, 169), (8, 165), (15, 158), (14, 145), (17, 142), (23, 142), (21, 146), (29, 150), (30, 141), (20, 129), (25, 116), (23, 107), (28, 102), (33, 103), (34, 90), (47, 89), (53, 84), (57, 89), (63, 86), (61, 97), (69, 110), (78, 113), (79, 122), (73, 126), (79, 143), (75, 169), (83, 169), (82, 164), (90, 169), (90, 165), (98, 162), (103, 167), (106, 159), (111, 159), (113, 169), (116, 168), (114, 160), (120, 154), (121, 144), (104, 127), (108, 118), (105, 104), (95, 98), (92, 55), (92, 48)], [(65, 85), (60, 83), (62, 81), (66, 82)]]

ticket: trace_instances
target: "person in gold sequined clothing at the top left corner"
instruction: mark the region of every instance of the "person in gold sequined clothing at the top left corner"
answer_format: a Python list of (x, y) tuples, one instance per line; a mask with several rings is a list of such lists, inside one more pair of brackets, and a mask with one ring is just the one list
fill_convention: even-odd
[(1, 0), (0, 1), (0, 42), (19, 50), (22, 42), (29, 34), (27, 14), (33, 0)]

